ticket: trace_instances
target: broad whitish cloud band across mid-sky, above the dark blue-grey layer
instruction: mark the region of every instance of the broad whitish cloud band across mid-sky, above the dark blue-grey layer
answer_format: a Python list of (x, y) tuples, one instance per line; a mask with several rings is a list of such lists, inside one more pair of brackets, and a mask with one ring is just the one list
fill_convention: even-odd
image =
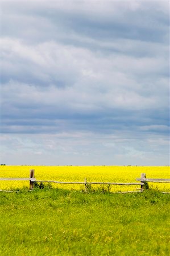
[[(101, 56), (88, 49), (55, 42), (27, 46), (16, 39), (2, 39), (1, 52), (3, 70), (9, 73), (9, 79), (11, 76), (2, 89), (2, 93), (6, 93), (4, 99), (9, 97), (10, 91), (16, 99), (19, 93), (23, 102), (27, 99), (38, 104), (59, 105), (64, 101), (72, 106), (75, 104), (76, 108), (77, 104), (84, 108), (89, 104), (94, 108), (105, 105), (148, 109), (157, 108), (158, 103), (160, 108), (166, 102), (163, 98), (160, 101), (158, 96), (168, 92), (168, 79), (162, 83), (163, 79), (154, 78), (154, 74), (167, 69), (163, 57), (136, 58), (114, 53)], [(150, 76), (150, 82), (146, 83)], [(146, 97), (145, 92), (150, 90), (152, 95)]]

